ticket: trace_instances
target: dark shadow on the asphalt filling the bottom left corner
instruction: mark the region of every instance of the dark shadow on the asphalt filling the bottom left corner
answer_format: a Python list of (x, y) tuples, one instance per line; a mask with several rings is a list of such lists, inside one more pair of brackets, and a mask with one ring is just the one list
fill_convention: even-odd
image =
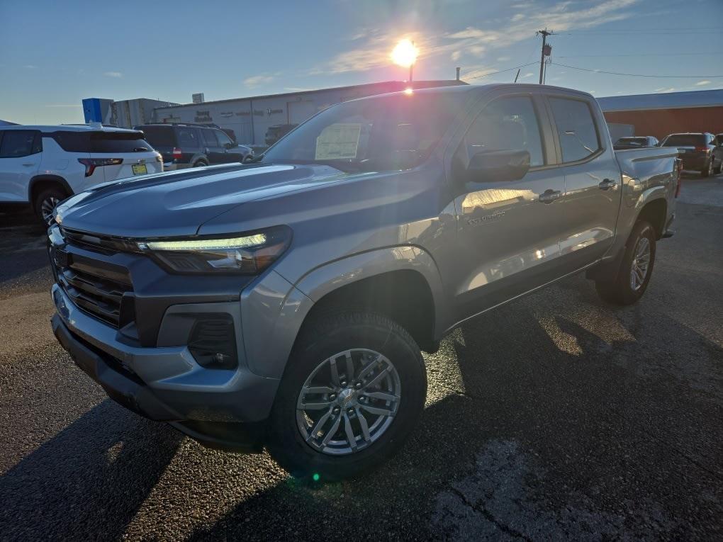
[(0, 539), (120, 538), (181, 438), (103, 401), (0, 477)]

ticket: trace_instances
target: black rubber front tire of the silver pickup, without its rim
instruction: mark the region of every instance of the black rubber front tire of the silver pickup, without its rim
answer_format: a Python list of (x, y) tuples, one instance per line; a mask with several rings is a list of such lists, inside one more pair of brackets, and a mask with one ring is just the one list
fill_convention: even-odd
[[(330, 314), (304, 328), (276, 394), (268, 450), (296, 478), (335, 481), (354, 477), (394, 455), (419, 421), (427, 397), (422, 353), (406, 330), (380, 314)], [(297, 426), (296, 402), (312, 371), (330, 356), (350, 348), (375, 350), (393, 362), (401, 382), (399, 404), (377, 440), (348, 455), (330, 455), (305, 442)]]

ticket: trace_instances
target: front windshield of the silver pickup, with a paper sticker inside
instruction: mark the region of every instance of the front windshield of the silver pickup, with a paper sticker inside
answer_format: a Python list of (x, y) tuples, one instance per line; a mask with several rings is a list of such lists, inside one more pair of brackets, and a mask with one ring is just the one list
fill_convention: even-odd
[(263, 162), (325, 164), (341, 171), (414, 168), (445, 134), (459, 93), (398, 94), (341, 103), (281, 139)]

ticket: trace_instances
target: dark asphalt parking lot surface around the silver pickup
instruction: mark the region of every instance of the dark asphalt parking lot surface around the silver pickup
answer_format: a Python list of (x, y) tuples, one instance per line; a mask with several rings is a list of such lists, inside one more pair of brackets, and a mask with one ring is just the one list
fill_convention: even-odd
[(0, 215), (0, 539), (723, 538), (723, 176), (686, 176), (640, 304), (582, 277), (455, 330), (403, 452), (301, 486), (129, 413), (54, 339), (43, 231)]

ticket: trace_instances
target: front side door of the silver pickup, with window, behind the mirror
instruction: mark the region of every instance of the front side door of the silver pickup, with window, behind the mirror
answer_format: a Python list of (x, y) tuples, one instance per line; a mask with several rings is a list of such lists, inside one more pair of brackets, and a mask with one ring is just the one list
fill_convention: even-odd
[[(481, 108), (455, 151), (455, 185), (463, 186), (455, 199), (460, 320), (559, 276), (565, 181), (550, 136), (538, 95), (505, 95)], [(459, 182), (472, 156), (494, 150), (527, 150), (530, 170), (517, 181)]]

